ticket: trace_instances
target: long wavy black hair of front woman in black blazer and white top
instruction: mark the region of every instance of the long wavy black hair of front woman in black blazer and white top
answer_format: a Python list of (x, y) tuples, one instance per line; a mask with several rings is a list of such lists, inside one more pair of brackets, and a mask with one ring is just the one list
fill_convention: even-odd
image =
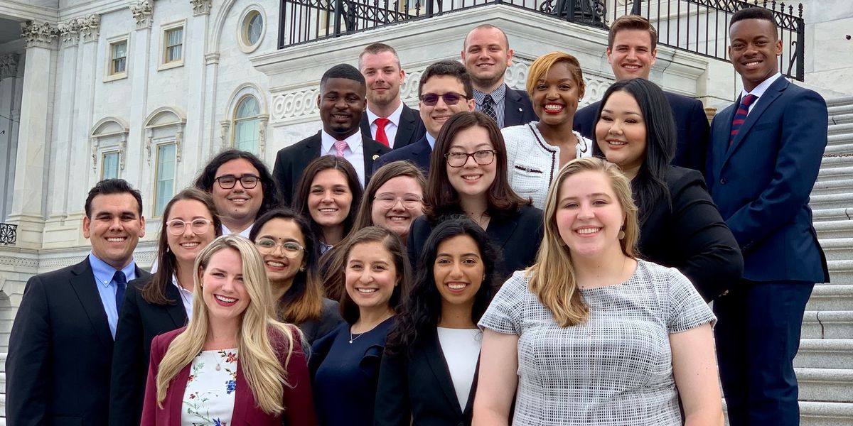
[(416, 343), (420, 343), (438, 326), (441, 316), (441, 294), (432, 273), (438, 245), (457, 235), (467, 235), (477, 244), (483, 262), (485, 279), (474, 296), (471, 320), (476, 324), (495, 296), (500, 280), (495, 270), (496, 249), (489, 236), (469, 217), (457, 215), (440, 222), (432, 230), (418, 259), (417, 278), (409, 296), (403, 301), (397, 320), (386, 339), (387, 354), (411, 354)]

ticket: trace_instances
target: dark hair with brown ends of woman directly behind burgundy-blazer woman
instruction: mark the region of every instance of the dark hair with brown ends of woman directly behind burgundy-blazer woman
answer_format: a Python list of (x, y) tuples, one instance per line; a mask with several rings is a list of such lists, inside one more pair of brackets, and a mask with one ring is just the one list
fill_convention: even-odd
[[(322, 314), (322, 285), (317, 276), (317, 259), (320, 251), (310, 224), (304, 216), (291, 209), (276, 209), (258, 217), (249, 233), (249, 239), (254, 242), (261, 233), (266, 222), (273, 219), (284, 219), (296, 224), (302, 239), (305, 241), (305, 269), (297, 271), (293, 276), (293, 284), (276, 302), (278, 319), (291, 324), (302, 324), (307, 320), (317, 320)], [(270, 285), (272, 282), (270, 281)]]

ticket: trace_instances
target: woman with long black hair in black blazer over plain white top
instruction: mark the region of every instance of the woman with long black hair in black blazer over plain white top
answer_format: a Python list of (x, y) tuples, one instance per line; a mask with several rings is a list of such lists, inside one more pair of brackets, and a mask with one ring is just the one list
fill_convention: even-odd
[(415, 286), (388, 334), (374, 425), (470, 425), (477, 389), (477, 322), (497, 291), (495, 249), (467, 216), (438, 224)]

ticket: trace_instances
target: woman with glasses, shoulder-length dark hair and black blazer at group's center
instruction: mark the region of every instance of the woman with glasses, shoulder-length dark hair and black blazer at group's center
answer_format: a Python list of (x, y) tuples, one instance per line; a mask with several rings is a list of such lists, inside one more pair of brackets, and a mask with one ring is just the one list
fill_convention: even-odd
[(483, 112), (458, 112), (438, 133), (430, 160), (424, 216), (409, 232), (412, 264), (443, 216), (465, 214), (502, 250), (501, 273), (530, 266), (542, 241), (542, 210), (507, 181), (507, 149), (495, 120)]

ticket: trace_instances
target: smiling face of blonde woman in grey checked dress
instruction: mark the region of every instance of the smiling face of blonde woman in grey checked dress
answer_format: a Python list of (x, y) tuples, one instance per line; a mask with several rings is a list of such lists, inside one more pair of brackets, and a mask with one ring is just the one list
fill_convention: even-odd
[[(560, 184), (554, 217), (572, 256), (618, 256), (625, 213), (604, 172), (582, 171)], [(600, 257), (601, 258), (601, 257)]]

